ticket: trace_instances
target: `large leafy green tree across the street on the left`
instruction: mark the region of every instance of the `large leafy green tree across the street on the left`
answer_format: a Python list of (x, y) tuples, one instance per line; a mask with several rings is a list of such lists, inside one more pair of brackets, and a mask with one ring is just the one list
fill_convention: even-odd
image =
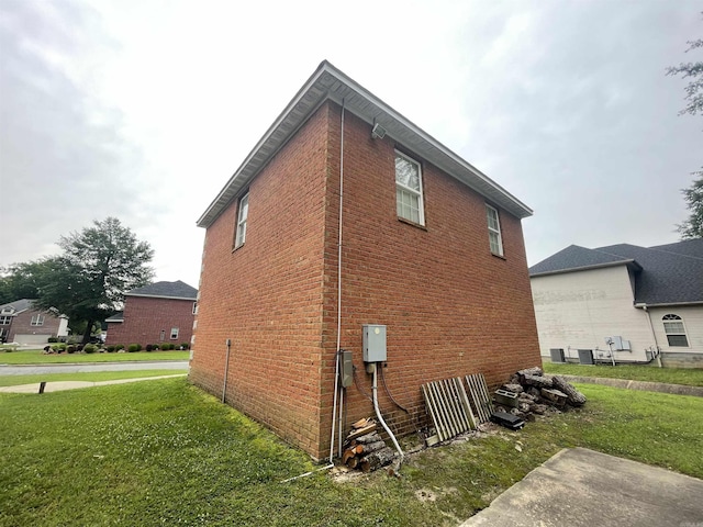
[(58, 246), (63, 255), (41, 260), (44, 274), (35, 304), (85, 322), (85, 344), (96, 322), (122, 307), (125, 292), (152, 281), (154, 250), (116, 217), (62, 236)]

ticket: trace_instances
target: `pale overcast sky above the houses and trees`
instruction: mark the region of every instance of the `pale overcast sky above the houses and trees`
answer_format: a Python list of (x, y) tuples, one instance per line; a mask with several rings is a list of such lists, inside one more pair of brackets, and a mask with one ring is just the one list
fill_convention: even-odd
[[(0, 0), (0, 267), (116, 216), (198, 287), (196, 221), (323, 59), (535, 213), (528, 265), (679, 239), (698, 0)], [(253, 89), (254, 88), (254, 89)]]

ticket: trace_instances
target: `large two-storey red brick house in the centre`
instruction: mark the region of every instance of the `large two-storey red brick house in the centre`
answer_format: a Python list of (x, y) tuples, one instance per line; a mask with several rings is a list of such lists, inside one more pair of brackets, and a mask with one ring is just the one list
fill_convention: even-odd
[(383, 325), (379, 404), (410, 434), (427, 423), (423, 383), (482, 372), (495, 386), (540, 363), (531, 214), (324, 61), (198, 222), (190, 379), (323, 458), (337, 350), (356, 369), (338, 394), (346, 434), (373, 414), (362, 325)]

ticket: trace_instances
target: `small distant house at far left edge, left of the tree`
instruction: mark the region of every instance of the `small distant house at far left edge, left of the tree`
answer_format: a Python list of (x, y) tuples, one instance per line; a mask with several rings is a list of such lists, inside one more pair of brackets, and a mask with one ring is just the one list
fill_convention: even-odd
[(68, 317), (36, 310), (31, 299), (0, 305), (0, 343), (46, 344), (68, 335)]

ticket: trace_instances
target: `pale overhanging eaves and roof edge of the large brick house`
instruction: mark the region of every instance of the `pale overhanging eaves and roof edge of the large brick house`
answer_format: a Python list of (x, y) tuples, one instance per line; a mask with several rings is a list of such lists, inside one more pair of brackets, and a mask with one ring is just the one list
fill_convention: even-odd
[(522, 218), (532, 215), (532, 209), (495, 181), (449, 150), (327, 60), (323, 60), (225, 183), (210, 206), (202, 213), (198, 220), (198, 226), (210, 226), (290, 137), (298, 132), (310, 115), (327, 100), (339, 105), (344, 101), (345, 111), (354, 113), (371, 125), (379, 124), (386, 130), (388, 137), (410, 148), (414, 154), (514, 216)]

